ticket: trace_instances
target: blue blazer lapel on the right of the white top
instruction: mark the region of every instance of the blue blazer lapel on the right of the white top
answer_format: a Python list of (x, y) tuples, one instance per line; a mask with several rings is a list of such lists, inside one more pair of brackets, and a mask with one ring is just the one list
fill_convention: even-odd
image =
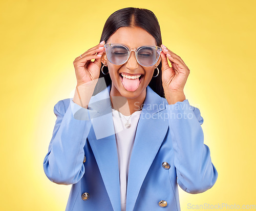
[(164, 111), (163, 99), (147, 86), (131, 155), (126, 210), (134, 209), (144, 178), (166, 135), (168, 119), (164, 118)]

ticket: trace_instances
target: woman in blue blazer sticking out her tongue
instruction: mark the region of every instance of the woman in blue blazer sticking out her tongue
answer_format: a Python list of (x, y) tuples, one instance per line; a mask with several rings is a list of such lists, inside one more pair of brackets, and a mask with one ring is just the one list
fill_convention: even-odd
[(74, 61), (74, 97), (54, 107), (45, 173), (72, 184), (66, 210), (180, 210), (177, 184), (201, 193), (218, 177), (183, 92), (189, 69), (150, 10), (114, 12), (100, 41)]

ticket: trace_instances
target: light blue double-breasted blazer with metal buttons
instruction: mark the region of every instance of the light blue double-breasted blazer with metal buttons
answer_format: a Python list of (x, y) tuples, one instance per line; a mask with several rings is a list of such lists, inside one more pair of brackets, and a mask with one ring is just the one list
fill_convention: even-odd
[[(55, 183), (72, 184), (68, 211), (121, 210), (110, 89), (92, 96), (88, 109), (73, 98), (54, 106), (57, 119), (44, 171)], [(129, 167), (127, 211), (180, 210), (177, 184), (192, 194), (215, 184), (218, 173), (202, 123), (187, 99), (169, 105), (147, 86)]]

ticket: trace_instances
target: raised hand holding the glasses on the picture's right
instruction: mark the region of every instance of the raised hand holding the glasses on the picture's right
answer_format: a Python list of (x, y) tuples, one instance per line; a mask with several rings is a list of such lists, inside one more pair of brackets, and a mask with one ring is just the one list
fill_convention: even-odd
[[(163, 51), (161, 52), (162, 60), (162, 83), (164, 93), (169, 104), (174, 104), (177, 101), (183, 101), (185, 95), (183, 92), (190, 70), (185, 65), (183, 60), (173, 51), (170, 51), (164, 45), (161, 45)], [(168, 60), (172, 64), (169, 66)]]

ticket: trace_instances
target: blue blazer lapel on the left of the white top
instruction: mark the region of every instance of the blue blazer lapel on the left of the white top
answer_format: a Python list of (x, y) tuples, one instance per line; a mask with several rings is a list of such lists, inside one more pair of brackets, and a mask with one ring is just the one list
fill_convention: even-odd
[[(110, 88), (93, 96), (88, 105), (92, 127), (88, 141), (114, 211), (121, 210), (120, 182), (115, 129), (113, 124)], [(99, 202), (100, 203), (100, 202)]]

